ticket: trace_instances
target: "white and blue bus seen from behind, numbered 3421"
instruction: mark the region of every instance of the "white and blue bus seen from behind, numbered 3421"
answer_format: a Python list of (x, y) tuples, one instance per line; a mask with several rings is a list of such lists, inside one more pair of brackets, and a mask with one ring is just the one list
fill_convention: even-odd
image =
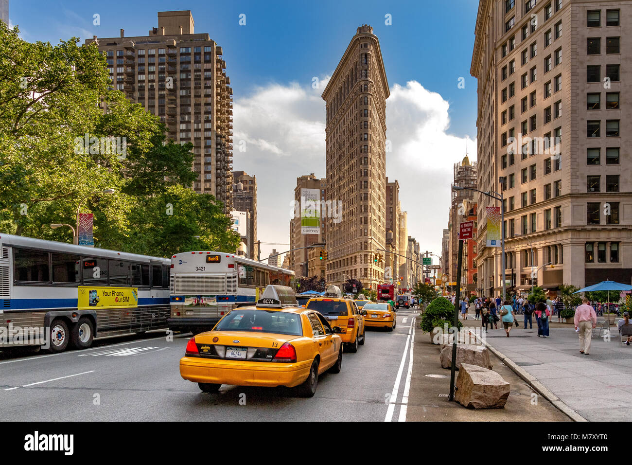
[(233, 308), (257, 302), (269, 284), (295, 288), (294, 271), (226, 252), (171, 257), (169, 329), (210, 331)]

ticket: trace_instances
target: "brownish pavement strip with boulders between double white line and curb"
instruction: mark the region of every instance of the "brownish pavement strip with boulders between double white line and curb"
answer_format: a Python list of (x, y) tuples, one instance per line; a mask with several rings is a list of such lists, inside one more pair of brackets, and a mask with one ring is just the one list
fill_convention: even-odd
[(490, 361), (494, 371), (509, 383), (511, 390), (504, 409), (466, 409), (458, 402), (450, 402), (450, 370), (441, 368), (439, 345), (431, 344), (430, 335), (419, 327), (420, 320), (416, 318), (406, 421), (571, 421), (544, 397), (535, 398), (536, 403), (533, 389), (493, 353)]

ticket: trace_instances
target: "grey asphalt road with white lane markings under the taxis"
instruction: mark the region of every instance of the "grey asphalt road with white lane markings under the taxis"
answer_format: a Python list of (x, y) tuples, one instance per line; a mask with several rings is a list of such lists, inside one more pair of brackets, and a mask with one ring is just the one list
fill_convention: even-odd
[(414, 311), (393, 332), (367, 328), (341, 373), (325, 373), (312, 399), (288, 388), (223, 385), (200, 392), (179, 375), (190, 334), (95, 341), (61, 354), (0, 352), (0, 417), (5, 421), (405, 421)]

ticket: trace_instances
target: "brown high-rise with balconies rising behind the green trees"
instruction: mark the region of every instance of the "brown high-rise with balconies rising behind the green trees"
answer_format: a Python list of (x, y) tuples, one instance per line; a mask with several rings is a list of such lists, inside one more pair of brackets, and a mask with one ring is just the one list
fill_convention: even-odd
[(191, 142), (193, 189), (231, 211), (233, 89), (222, 47), (195, 34), (190, 10), (159, 11), (149, 35), (87, 39), (106, 55), (112, 85), (166, 125), (169, 139)]

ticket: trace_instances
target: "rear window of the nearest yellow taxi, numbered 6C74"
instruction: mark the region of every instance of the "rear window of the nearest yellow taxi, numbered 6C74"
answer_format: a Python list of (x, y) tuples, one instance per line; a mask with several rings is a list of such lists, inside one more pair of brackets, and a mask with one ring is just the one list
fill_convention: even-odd
[(303, 328), (300, 318), (300, 315), (295, 313), (234, 309), (217, 323), (214, 331), (247, 331), (302, 336)]

